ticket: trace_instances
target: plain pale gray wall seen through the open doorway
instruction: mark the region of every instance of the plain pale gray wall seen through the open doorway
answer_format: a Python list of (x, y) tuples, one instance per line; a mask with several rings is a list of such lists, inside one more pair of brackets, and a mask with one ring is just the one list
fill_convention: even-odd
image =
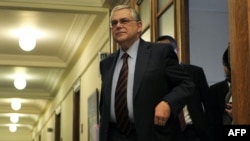
[(222, 55), (229, 42), (227, 0), (189, 0), (190, 63), (209, 85), (224, 80)]

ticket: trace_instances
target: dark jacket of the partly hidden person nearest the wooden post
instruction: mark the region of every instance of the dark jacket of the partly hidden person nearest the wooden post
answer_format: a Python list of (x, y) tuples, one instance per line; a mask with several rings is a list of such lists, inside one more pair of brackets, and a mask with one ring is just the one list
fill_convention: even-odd
[(213, 110), (210, 113), (217, 141), (223, 140), (223, 114), (225, 112), (225, 97), (229, 91), (227, 80), (213, 84), (209, 88)]

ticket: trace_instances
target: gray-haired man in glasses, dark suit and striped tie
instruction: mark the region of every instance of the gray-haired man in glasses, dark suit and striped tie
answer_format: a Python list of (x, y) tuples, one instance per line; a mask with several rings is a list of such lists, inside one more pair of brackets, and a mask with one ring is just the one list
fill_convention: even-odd
[[(194, 84), (191, 78), (168, 45), (140, 39), (142, 22), (133, 8), (126, 5), (114, 7), (110, 21), (113, 38), (120, 49), (100, 63), (99, 140), (179, 141), (177, 116), (192, 96)], [(127, 61), (124, 59), (127, 55), (122, 57), (123, 54), (128, 54)], [(120, 86), (119, 71), (126, 68), (124, 66), (128, 66), (127, 82), (123, 85), (127, 87), (121, 91), (126, 91), (124, 103), (127, 105), (124, 106), (126, 110), (117, 112), (116, 97), (120, 91), (116, 91), (116, 86)], [(126, 115), (123, 119), (128, 118), (129, 123), (120, 124), (118, 115), (121, 113)]]

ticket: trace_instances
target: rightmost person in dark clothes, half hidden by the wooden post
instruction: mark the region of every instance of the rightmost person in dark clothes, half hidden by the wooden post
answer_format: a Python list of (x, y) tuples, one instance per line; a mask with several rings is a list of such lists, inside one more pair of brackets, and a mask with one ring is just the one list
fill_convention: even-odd
[(213, 110), (211, 110), (212, 125), (216, 135), (216, 141), (223, 139), (223, 125), (232, 124), (231, 110), (232, 104), (229, 99), (225, 99), (227, 94), (230, 93), (231, 85), (231, 71), (229, 63), (229, 50), (225, 50), (222, 56), (222, 64), (225, 73), (225, 80), (215, 83), (210, 86), (209, 91), (211, 101), (213, 102)]

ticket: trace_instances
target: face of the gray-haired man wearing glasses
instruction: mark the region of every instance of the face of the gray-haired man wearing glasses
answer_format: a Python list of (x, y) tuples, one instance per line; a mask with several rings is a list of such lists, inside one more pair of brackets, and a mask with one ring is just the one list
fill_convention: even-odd
[(141, 21), (135, 21), (129, 9), (121, 9), (111, 17), (112, 35), (118, 43), (133, 43), (142, 30)]

